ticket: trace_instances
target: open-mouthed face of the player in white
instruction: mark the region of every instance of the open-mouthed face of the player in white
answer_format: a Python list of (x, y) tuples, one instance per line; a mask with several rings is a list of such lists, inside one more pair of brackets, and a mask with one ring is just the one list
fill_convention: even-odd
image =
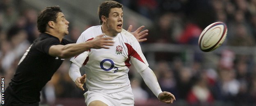
[(121, 8), (112, 8), (107, 18), (107, 27), (114, 35), (121, 33), (123, 28), (123, 10)]

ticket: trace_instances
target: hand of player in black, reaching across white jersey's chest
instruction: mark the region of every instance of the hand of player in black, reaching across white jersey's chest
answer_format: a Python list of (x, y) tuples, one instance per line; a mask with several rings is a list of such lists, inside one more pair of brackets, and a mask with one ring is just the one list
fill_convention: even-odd
[(96, 36), (93, 40), (89, 41), (91, 42), (91, 45), (93, 45), (94, 49), (109, 49), (108, 46), (113, 46), (114, 41), (112, 41), (111, 37), (103, 37), (104, 34)]

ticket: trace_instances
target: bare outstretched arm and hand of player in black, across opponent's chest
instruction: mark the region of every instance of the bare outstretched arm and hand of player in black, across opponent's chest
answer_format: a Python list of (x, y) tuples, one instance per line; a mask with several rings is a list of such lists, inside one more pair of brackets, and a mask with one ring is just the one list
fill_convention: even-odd
[(80, 53), (83, 53), (89, 49), (109, 49), (109, 46), (114, 45), (114, 41), (111, 41), (111, 37), (103, 37), (103, 35), (98, 35), (93, 40), (87, 42), (82, 42), (79, 44), (66, 44), (66, 45), (53, 45), (50, 46), (49, 54), (51, 56), (57, 56), (60, 58), (70, 58)]

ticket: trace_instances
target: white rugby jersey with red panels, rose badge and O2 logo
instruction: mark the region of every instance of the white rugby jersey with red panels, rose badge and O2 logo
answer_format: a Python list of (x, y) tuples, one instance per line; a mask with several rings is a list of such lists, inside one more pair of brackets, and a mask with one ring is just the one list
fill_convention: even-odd
[[(92, 40), (101, 34), (101, 25), (90, 27), (80, 35), (77, 43)], [(123, 29), (113, 37), (113, 41), (114, 46), (110, 46), (110, 49), (90, 49), (70, 60), (79, 67), (85, 67), (89, 91), (124, 91), (130, 87), (129, 67), (133, 65), (140, 72), (149, 66), (139, 42), (131, 33)]]

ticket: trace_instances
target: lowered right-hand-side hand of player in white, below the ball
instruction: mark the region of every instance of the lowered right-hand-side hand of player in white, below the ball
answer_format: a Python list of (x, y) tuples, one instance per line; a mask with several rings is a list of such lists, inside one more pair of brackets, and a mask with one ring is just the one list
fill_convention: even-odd
[(173, 101), (176, 100), (173, 94), (166, 91), (160, 93), (158, 95), (158, 99), (167, 104), (173, 103)]

